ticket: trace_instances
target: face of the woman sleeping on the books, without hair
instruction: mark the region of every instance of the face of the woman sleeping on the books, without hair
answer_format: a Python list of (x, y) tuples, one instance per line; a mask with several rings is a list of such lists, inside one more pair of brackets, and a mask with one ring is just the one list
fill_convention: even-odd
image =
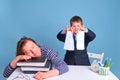
[(41, 49), (38, 45), (36, 45), (34, 42), (28, 40), (26, 44), (22, 48), (25, 55), (31, 56), (31, 57), (40, 57), (41, 56)]

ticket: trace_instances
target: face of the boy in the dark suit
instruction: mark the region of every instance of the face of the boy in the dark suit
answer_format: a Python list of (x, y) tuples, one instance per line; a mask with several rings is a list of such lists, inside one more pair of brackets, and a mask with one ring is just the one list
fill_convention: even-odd
[(81, 24), (81, 22), (73, 22), (71, 25), (72, 31), (77, 34), (78, 31), (82, 31), (83, 29), (83, 25)]

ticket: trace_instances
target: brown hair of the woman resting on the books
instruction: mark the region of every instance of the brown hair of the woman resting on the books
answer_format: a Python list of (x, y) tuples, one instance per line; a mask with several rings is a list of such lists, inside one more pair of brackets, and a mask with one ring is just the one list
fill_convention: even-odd
[(17, 43), (17, 50), (16, 50), (16, 56), (18, 56), (18, 55), (24, 55), (24, 52), (23, 52), (23, 50), (22, 50), (22, 48), (23, 48), (23, 46), (26, 44), (26, 42), (27, 41), (32, 41), (32, 42), (34, 42), (36, 45), (38, 45), (37, 44), (37, 42), (35, 42), (32, 38), (28, 38), (28, 37), (22, 37), (19, 41), (18, 41), (18, 43)]

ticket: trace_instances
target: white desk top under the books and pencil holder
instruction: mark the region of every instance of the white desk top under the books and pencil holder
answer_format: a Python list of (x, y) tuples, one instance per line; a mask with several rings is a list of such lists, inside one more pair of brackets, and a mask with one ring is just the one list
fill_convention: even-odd
[[(7, 80), (13, 80), (18, 74), (23, 74), (20, 69), (16, 69)], [(33, 74), (28, 75), (30, 80), (36, 80), (32, 78)], [(21, 79), (14, 79), (21, 80)], [(26, 79), (22, 79), (26, 80)], [(63, 75), (47, 78), (45, 80), (119, 80), (111, 71), (108, 76), (102, 76), (90, 70), (90, 66), (69, 66), (69, 71)]]

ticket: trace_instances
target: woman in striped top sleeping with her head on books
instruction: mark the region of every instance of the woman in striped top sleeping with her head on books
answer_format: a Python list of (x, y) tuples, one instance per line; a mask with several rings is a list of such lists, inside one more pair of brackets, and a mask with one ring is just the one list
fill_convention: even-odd
[(36, 72), (34, 78), (42, 80), (48, 77), (61, 75), (68, 71), (67, 64), (58, 56), (58, 54), (47, 46), (39, 46), (33, 39), (23, 37), (18, 41), (16, 57), (6, 66), (4, 77), (9, 77), (17, 68), (19, 60), (28, 60), (33, 57), (46, 57), (55, 68), (48, 72)]

